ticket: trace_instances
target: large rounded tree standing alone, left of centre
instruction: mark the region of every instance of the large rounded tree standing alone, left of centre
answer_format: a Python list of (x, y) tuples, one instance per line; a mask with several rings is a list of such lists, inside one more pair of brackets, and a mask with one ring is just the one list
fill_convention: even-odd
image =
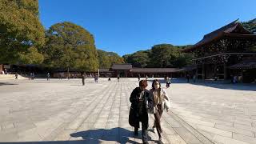
[(62, 22), (46, 31), (45, 64), (76, 70), (98, 70), (94, 36), (81, 26)]

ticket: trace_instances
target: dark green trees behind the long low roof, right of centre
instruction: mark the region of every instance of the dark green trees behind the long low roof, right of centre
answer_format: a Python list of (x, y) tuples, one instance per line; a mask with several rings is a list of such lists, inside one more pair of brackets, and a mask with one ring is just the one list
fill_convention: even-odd
[(180, 52), (186, 46), (159, 44), (150, 50), (137, 51), (123, 56), (135, 67), (182, 67), (191, 64), (192, 55)]

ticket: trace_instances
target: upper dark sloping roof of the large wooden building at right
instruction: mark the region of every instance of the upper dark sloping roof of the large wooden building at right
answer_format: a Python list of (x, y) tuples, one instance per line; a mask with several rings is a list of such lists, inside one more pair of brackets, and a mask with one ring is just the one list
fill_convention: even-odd
[(230, 36), (230, 37), (254, 36), (254, 38), (256, 38), (256, 34), (252, 34), (249, 30), (246, 30), (246, 28), (244, 28), (242, 24), (238, 22), (238, 19), (237, 19), (234, 22), (227, 24), (226, 26), (222, 26), (218, 30), (214, 30), (209, 34), (204, 35), (201, 41), (194, 44), (193, 46), (183, 49), (182, 51), (186, 52), (186, 51), (194, 50), (195, 48), (198, 48), (200, 46), (206, 45), (207, 43), (213, 42), (218, 38), (222, 38), (222, 36)]

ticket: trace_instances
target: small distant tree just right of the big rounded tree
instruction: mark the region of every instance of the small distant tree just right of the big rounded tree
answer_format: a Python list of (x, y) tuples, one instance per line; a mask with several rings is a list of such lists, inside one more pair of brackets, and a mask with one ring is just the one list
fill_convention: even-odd
[(106, 52), (104, 50), (98, 51), (98, 62), (100, 68), (110, 68), (113, 63), (124, 63), (124, 59), (113, 52)]

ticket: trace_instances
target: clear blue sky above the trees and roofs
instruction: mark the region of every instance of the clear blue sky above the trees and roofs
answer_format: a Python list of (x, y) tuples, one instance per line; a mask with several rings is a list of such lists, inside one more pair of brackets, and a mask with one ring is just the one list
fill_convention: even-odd
[(94, 35), (98, 49), (119, 55), (160, 43), (194, 44), (229, 22), (256, 18), (256, 0), (39, 0), (48, 29), (74, 22)]

